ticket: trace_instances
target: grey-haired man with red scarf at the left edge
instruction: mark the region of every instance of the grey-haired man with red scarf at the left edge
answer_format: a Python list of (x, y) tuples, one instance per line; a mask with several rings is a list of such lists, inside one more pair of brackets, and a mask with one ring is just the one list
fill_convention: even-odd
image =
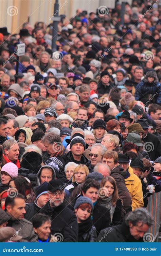
[(18, 168), (20, 168), (20, 162), (18, 160), (19, 156), (19, 145), (16, 140), (9, 139), (6, 140), (2, 145), (3, 156), (1, 158), (2, 165), (12, 162)]

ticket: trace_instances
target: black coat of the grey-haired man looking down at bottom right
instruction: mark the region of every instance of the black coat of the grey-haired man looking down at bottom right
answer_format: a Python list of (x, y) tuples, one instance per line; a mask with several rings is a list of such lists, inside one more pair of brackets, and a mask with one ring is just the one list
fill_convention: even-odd
[(134, 237), (132, 237), (129, 227), (124, 222), (121, 225), (103, 229), (100, 232), (97, 241), (100, 243), (144, 242), (142, 238), (136, 240)]

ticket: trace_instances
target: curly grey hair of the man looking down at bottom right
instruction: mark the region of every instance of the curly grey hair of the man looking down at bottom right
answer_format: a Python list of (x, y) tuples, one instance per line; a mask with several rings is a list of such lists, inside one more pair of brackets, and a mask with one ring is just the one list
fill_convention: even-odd
[(154, 219), (145, 208), (137, 208), (125, 217), (125, 222), (127, 225), (131, 222), (133, 226), (136, 226), (138, 222), (141, 222), (142, 224), (147, 224), (150, 227), (153, 225)]

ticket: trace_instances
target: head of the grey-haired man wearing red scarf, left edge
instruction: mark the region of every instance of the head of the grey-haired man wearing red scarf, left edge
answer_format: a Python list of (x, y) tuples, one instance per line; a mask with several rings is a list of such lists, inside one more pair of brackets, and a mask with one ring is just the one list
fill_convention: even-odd
[(2, 145), (2, 150), (5, 157), (11, 162), (14, 162), (18, 159), (19, 146), (16, 140), (6, 140)]

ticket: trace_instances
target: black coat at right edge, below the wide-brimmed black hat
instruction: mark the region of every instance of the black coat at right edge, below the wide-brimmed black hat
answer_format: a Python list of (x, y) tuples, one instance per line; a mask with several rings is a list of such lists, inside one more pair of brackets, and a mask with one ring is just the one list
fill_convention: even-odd
[[(145, 138), (142, 138), (144, 141), (144, 147), (147, 148), (149, 157), (152, 161), (155, 161), (159, 156), (161, 156), (161, 142), (159, 138), (151, 133), (147, 133)], [(150, 150), (150, 151), (149, 151)]]

